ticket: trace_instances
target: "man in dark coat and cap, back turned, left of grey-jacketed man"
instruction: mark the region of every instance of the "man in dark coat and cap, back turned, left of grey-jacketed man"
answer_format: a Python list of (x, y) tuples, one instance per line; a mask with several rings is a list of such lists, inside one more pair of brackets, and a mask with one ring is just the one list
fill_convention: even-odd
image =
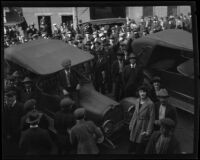
[(57, 131), (56, 143), (60, 154), (67, 154), (71, 149), (69, 141), (69, 130), (76, 124), (73, 114), (75, 102), (70, 98), (60, 101), (60, 110), (56, 112), (54, 118), (54, 128)]

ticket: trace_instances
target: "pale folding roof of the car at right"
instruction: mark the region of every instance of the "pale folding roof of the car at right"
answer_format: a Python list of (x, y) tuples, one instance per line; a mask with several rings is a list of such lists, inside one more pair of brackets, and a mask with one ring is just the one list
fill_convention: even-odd
[(131, 45), (133, 53), (142, 57), (139, 59), (144, 66), (148, 63), (150, 57), (152, 57), (156, 46), (182, 50), (187, 57), (193, 57), (192, 34), (180, 29), (168, 29), (150, 34), (134, 40)]

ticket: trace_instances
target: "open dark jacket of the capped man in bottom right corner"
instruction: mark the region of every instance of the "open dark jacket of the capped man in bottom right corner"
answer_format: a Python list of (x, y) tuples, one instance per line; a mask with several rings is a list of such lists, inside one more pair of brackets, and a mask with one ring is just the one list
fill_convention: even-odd
[[(145, 154), (156, 154), (156, 143), (160, 137), (160, 131), (156, 131), (151, 135), (151, 138), (147, 144)], [(169, 142), (169, 146), (165, 154), (180, 154), (180, 146), (176, 137), (172, 136)]]

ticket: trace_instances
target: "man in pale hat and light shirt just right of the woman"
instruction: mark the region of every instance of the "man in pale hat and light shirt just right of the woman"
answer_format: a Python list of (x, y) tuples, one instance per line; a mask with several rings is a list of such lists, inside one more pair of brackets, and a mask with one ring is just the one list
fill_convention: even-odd
[(176, 108), (169, 104), (169, 95), (166, 89), (160, 89), (157, 93), (159, 102), (155, 104), (155, 130), (159, 130), (159, 124), (162, 119), (170, 118), (177, 124)]

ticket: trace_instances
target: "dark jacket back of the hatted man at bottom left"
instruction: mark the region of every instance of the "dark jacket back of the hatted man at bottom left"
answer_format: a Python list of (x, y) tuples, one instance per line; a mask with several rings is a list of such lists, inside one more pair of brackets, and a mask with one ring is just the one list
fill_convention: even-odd
[(52, 151), (49, 133), (40, 128), (29, 128), (22, 132), (19, 147), (26, 155), (48, 155)]

